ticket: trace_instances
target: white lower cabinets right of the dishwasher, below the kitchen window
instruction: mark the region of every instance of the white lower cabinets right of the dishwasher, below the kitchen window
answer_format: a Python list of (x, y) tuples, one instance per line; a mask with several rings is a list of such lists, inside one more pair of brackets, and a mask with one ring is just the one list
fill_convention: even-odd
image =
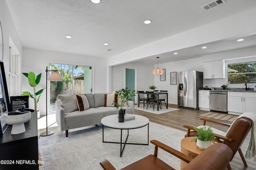
[(228, 111), (235, 113), (256, 113), (256, 93), (228, 92)]

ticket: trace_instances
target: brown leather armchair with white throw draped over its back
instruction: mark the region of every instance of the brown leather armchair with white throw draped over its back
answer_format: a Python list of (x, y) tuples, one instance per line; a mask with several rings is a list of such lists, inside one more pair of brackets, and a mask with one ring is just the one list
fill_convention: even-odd
[[(228, 129), (227, 133), (211, 127), (212, 131), (215, 134), (216, 141), (218, 143), (224, 143), (224, 144), (228, 145), (228, 147), (230, 147), (230, 149), (232, 149), (233, 155), (232, 155), (232, 158), (230, 159), (230, 162), (232, 161), (233, 157), (235, 156), (236, 152), (238, 151), (242, 158), (244, 166), (247, 166), (246, 160), (244, 158), (244, 155), (243, 155), (240, 147), (252, 127), (252, 120), (249, 118), (246, 118), (246, 117), (241, 117), (241, 118), (237, 119), (231, 126), (231, 124), (223, 123), (221, 121), (218, 121), (217, 119), (208, 119), (208, 118), (200, 118), (200, 119), (203, 120), (203, 125), (198, 126), (198, 127), (206, 126), (206, 121), (212, 122), (212, 123), (217, 123), (219, 125), (228, 126), (229, 129)], [(183, 127), (188, 129), (185, 137), (194, 137), (194, 136), (198, 135), (197, 132), (195, 131), (194, 127), (189, 126), (189, 125), (184, 125)], [(206, 127), (208, 128), (209, 126), (206, 126)], [(192, 130), (192, 131), (190, 131), (190, 130)], [(228, 164), (228, 170), (231, 170), (230, 164)]]

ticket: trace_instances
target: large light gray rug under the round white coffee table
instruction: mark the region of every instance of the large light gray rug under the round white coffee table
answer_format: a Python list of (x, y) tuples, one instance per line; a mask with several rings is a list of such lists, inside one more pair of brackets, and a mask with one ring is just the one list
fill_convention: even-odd
[[(148, 127), (129, 130), (128, 143), (147, 143)], [(149, 123), (149, 140), (156, 139), (180, 150), (185, 132), (157, 123)], [(123, 139), (127, 131), (123, 131)], [(125, 139), (124, 139), (125, 140)], [(120, 130), (104, 127), (104, 141), (120, 141)], [(124, 142), (124, 141), (123, 141)], [(102, 143), (102, 126), (65, 134), (40, 137), (38, 147), (44, 165), (40, 170), (102, 170), (100, 160), (108, 159), (116, 169), (123, 168), (148, 154), (154, 154), (154, 145), (126, 145), (120, 157), (120, 144)], [(180, 159), (158, 149), (158, 157), (175, 169)]]

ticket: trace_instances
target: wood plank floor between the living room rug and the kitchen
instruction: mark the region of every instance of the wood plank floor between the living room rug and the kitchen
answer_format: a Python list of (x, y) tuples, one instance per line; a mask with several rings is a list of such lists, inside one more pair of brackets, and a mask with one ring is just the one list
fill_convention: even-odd
[[(135, 107), (138, 107), (138, 105), (135, 105)], [(177, 105), (173, 105), (173, 104), (168, 104), (168, 107), (178, 108)], [(184, 135), (186, 135), (187, 129), (185, 129), (182, 126), (191, 125), (196, 127), (198, 125), (202, 125), (202, 120), (200, 120), (200, 115), (208, 112), (208, 111), (194, 110), (194, 109), (187, 109), (187, 108), (178, 108), (178, 109), (179, 110), (163, 113), (160, 115), (135, 109), (135, 114), (148, 117), (148, 119), (152, 122), (184, 131)], [(215, 127), (222, 131), (228, 130), (227, 127), (222, 125), (217, 125), (214, 123), (207, 122), (206, 125)], [(244, 140), (244, 143), (241, 146), (241, 149), (244, 155), (249, 145), (250, 136), (251, 136), (251, 131), (249, 132), (246, 139)], [(246, 159), (246, 162), (248, 165), (247, 167), (244, 166), (242, 159), (237, 152), (232, 162), (230, 162), (230, 166), (232, 170), (256, 170), (256, 162), (253, 162), (251, 159)]]

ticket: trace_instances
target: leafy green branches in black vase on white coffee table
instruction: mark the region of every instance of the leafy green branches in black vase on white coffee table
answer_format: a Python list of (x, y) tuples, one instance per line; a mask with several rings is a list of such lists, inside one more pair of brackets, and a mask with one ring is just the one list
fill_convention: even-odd
[(116, 91), (118, 94), (118, 97), (120, 98), (120, 104), (118, 102), (113, 101), (113, 105), (116, 105), (116, 109), (120, 107), (120, 110), (118, 111), (118, 121), (119, 122), (124, 122), (124, 114), (125, 114), (125, 109), (122, 109), (124, 107), (124, 104), (127, 101), (130, 101), (130, 97), (135, 96), (138, 92), (136, 90), (127, 90), (127, 88), (122, 88), (121, 90)]

